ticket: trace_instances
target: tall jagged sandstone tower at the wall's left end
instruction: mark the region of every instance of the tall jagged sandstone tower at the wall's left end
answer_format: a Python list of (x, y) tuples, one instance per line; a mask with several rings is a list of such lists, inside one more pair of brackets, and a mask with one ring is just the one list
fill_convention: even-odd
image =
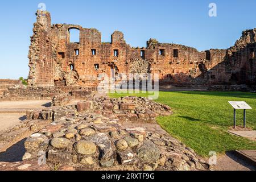
[(28, 53), (28, 86), (54, 86), (51, 15), (47, 11), (37, 11), (36, 16)]

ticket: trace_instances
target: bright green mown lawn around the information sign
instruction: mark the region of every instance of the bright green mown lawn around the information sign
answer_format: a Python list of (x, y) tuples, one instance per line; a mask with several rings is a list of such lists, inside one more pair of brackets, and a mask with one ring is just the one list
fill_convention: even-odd
[[(233, 109), (228, 101), (246, 101), (253, 107), (247, 110), (247, 127), (256, 129), (256, 94), (243, 92), (159, 92), (156, 102), (172, 107), (174, 114), (158, 117), (158, 123), (201, 156), (208, 156), (209, 151), (222, 154), (229, 150), (255, 150), (256, 142), (227, 132), (233, 126)], [(237, 111), (237, 125), (243, 125), (242, 110)]]

